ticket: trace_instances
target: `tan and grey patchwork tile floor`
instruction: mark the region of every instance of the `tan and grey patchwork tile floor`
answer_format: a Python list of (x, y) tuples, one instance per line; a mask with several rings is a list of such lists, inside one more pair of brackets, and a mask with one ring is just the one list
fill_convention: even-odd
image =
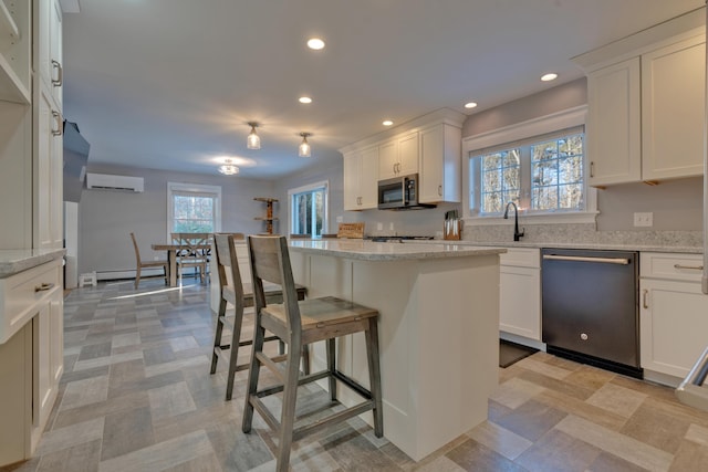
[[(207, 289), (101, 283), (65, 301), (65, 373), (37, 455), (17, 471), (271, 471), (274, 440), (209, 375)], [(244, 349), (246, 350), (246, 349)], [(248, 355), (246, 353), (246, 355)], [(707, 471), (708, 412), (669, 388), (537, 353), (500, 369), (489, 420), (414, 463), (360, 419), (293, 447), (294, 471)], [(316, 418), (326, 395), (303, 388)]]

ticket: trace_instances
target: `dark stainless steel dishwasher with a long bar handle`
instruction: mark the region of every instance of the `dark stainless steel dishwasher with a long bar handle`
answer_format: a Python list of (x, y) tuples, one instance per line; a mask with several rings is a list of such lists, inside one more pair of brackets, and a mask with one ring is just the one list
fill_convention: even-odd
[(548, 352), (642, 378), (638, 254), (573, 249), (541, 254)]

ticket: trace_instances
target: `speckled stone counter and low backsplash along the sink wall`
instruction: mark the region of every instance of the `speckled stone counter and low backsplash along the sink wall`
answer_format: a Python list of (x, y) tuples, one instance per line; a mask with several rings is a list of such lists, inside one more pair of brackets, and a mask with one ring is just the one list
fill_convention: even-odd
[[(652, 245), (652, 247), (700, 247), (702, 233), (700, 231), (596, 231), (594, 223), (566, 224), (523, 224), (525, 234), (523, 242), (552, 243), (586, 243), (586, 244), (621, 244), (621, 245)], [(462, 239), (475, 242), (499, 243), (513, 239), (513, 225), (467, 224)]]

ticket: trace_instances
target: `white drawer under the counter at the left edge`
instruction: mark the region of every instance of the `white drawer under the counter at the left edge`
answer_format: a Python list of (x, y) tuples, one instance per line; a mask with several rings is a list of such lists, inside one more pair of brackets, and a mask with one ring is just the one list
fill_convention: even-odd
[(37, 306), (61, 287), (61, 259), (0, 280), (0, 344), (27, 322)]

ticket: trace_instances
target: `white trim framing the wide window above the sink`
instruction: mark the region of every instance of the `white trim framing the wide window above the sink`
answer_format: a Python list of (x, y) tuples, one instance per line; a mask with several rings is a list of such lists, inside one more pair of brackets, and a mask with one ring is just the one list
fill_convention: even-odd
[[(462, 218), (466, 222), (473, 225), (504, 224), (506, 222), (509, 222), (509, 220), (504, 220), (499, 216), (471, 214), (469, 209), (472, 191), (469, 181), (470, 154), (479, 149), (532, 138), (534, 136), (541, 136), (559, 129), (583, 126), (585, 124), (586, 115), (587, 105), (581, 105), (462, 139)], [(521, 211), (519, 212), (519, 217), (528, 219), (527, 221), (529, 222), (539, 224), (594, 223), (597, 216), (597, 190), (587, 185), (587, 167), (589, 166), (585, 165), (583, 169), (585, 172), (583, 176), (583, 181), (585, 182), (585, 211), (559, 211), (555, 213), (545, 212), (529, 214)]]

